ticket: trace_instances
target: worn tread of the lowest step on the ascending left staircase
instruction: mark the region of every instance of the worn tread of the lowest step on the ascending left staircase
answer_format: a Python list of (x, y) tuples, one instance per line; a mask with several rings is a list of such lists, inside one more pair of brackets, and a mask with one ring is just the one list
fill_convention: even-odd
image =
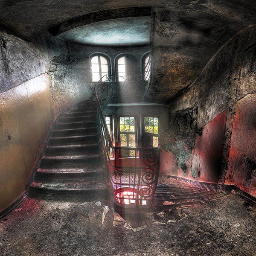
[[(93, 180), (92, 180), (93, 181)], [(34, 181), (31, 186), (38, 189), (53, 189), (53, 190), (74, 190), (74, 191), (83, 191), (83, 190), (95, 190), (95, 189), (107, 189), (107, 185), (105, 183), (94, 183), (90, 180), (83, 180), (79, 178), (79, 182), (77, 180), (73, 181), (71, 179), (68, 180), (56, 180), (52, 179), (46, 182), (37, 182)]]

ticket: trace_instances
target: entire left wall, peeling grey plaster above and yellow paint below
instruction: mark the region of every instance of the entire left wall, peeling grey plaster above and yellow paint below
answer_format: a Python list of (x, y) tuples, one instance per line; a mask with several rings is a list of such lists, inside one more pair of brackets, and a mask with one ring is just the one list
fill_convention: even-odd
[(69, 59), (67, 44), (48, 33), (25, 42), (0, 32), (0, 212), (26, 190), (57, 114), (91, 95)]

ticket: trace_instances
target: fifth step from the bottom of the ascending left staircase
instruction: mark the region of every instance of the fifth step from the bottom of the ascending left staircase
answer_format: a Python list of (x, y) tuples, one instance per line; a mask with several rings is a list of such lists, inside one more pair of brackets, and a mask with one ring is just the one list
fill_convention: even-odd
[(81, 136), (66, 136), (66, 137), (51, 137), (49, 145), (69, 145), (69, 144), (84, 144), (98, 142), (97, 134), (81, 135)]

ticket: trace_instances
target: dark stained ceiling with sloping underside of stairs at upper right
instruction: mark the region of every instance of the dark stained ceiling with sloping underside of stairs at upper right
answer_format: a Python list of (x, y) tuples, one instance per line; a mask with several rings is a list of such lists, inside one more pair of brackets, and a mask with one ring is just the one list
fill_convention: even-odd
[(256, 24), (255, 0), (0, 0), (0, 26), (29, 40), (50, 28), (61, 31), (62, 24), (76, 28), (73, 20), (82, 15), (146, 6), (152, 6), (156, 21), (152, 88), (158, 99), (175, 96), (228, 39)]

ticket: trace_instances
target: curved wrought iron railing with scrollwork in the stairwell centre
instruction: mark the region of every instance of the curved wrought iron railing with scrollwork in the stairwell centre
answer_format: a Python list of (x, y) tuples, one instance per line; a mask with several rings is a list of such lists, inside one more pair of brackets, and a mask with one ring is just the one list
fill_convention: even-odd
[[(160, 149), (115, 146), (108, 131), (102, 109), (108, 104), (114, 90), (109, 82), (112, 76), (103, 77), (95, 85), (94, 93), (98, 108), (99, 132), (102, 153), (109, 180), (113, 186), (116, 203), (121, 205), (151, 205), (157, 187)], [(111, 88), (111, 89), (110, 89)], [(134, 151), (134, 157), (122, 157), (122, 151)]]

